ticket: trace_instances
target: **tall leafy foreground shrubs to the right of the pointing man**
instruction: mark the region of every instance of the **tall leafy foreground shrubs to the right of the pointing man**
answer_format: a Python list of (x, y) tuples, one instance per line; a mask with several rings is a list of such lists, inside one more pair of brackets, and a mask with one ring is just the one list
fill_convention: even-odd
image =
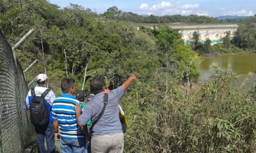
[(255, 93), (237, 78), (215, 69), (188, 96), (174, 82), (168, 91), (157, 87), (161, 81), (137, 82), (122, 101), (129, 119), (125, 152), (255, 152)]

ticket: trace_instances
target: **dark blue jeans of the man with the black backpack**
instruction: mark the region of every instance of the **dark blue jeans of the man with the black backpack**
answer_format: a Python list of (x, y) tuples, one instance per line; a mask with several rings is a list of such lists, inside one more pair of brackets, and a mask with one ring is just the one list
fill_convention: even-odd
[[(53, 124), (48, 122), (44, 126), (34, 126), (39, 153), (55, 153)], [(44, 140), (46, 140), (47, 150), (45, 149)]]

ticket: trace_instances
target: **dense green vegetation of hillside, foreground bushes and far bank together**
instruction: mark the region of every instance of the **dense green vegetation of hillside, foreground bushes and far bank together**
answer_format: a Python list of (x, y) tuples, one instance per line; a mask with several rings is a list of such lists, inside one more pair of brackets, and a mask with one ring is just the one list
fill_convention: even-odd
[(46, 71), (58, 96), (65, 77), (75, 78), (77, 89), (84, 73), (85, 89), (96, 76), (109, 89), (138, 77), (121, 101), (129, 119), (125, 152), (255, 152), (254, 91), (237, 89), (236, 73), (217, 68), (196, 85), (198, 54), (255, 50), (255, 25), (241, 24), (233, 40), (227, 32), (214, 46), (200, 43), (195, 32), (191, 45), (184, 45), (179, 29), (144, 25), (136, 31), (77, 4), (60, 9), (46, 0), (1, 1), (0, 12), (0, 29), (11, 46), (35, 29), (17, 49), (24, 69), (38, 59), (26, 72), (28, 84)]

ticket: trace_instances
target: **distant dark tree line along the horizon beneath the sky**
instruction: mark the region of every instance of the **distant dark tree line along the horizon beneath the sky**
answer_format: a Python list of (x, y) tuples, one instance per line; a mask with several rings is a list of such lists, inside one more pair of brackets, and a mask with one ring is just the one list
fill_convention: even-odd
[(118, 10), (116, 6), (113, 6), (103, 13), (104, 17), (115, 19), (118, 21), (134, 22), (134, 23), (147, 23), (147, 24), (170, 24), (170, 23), (187, 23), (187, 24), (244, 24), (244, 23), (256, 23), (256, 15), (253, 17), (238, 17), (218, 19), (213, 17), (206, 17), (202, 15), (164, 15), (164, 16), (141, 16), (132, 12), (124, 12)]

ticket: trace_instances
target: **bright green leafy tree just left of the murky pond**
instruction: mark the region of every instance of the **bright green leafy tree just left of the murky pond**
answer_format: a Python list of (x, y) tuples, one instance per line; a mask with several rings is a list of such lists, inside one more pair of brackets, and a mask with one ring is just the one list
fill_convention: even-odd
[[(178, 78), (179, 80), (187, 80), (189, 78), (187, 70), (190, 69), (189, 63), (193, 63), (193, 68), (190, 74), (194, 74), (193, 80), (196, 82), (199, 77), (197, 66), (196, 53), (188, 46), (184, 45), (181, 39), (179, 29), (172, 29), (167, 25), (156, 30), (157, 52), (159, 61), (166, 71), (166, 80), (170, 77)], [(195, 71), (193, 71), (195, 70)]]

